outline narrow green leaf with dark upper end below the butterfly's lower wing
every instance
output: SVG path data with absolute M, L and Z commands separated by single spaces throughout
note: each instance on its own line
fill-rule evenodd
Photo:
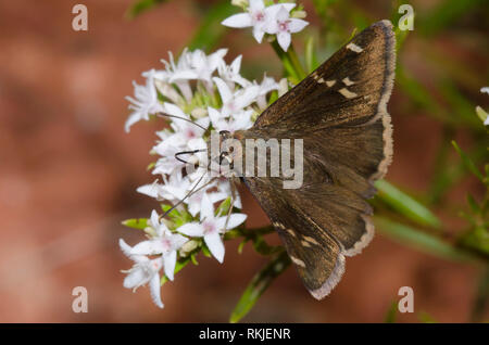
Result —
M 235 323 L 241 320 L 254 306 L 263 292 L 269 286 L 276 277 L 290 265 L 289 256 L 285 251 L 277 254 L 266 266 L 259 271 L 244 290 L 241 298 L 231 312 L 229 321 Z

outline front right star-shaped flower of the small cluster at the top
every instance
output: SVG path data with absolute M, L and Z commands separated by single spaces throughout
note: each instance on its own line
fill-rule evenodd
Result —
M 284 51 L 287 51 L 290 46 L 290 34 L 299 33 L 309 23 L 298 18 L 291 18 L 289 11 L 285 7 L 275 14 L 275 20 L 267 22 L 265 31 L 267 34 L 277 35 L 278 44 L 280 44 Z

